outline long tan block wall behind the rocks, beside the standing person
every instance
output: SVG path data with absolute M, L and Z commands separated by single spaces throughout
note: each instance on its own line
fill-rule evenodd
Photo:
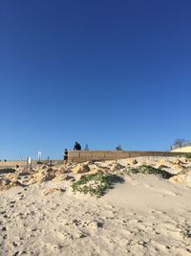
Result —
M 69 161 L 117 160 L 138 156 L 176 156 L 183 153 L 169 151 L 69 151 Z

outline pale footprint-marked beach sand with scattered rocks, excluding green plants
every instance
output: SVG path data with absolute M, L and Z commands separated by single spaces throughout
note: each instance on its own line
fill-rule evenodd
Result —
M 174 176 L 123 172 L 142 164 Z M 138 157 L 1 175 L 0 255 L 191 255 L 190 166 Z M 104 170 L 121 180 L 103 197 L 74 193 L 74 181 Z

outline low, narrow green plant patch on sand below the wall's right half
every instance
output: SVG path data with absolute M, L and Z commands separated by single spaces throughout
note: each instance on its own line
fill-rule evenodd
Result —
M 170 177 L 174 176 L 164 170 L 155 168 L 150 165 L 141 165 L 136 168 L 135 167 L 130 168 L 127 170 L 127 174 L 128 175 L 129 174 L 160 175 L 163 178 L 170 178 Z

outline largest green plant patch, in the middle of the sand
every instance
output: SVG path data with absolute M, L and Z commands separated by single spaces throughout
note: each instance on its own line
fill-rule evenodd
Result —
M 114 188 L 114 184 L 117 182 L 123 182 L 123 178 L 114 174 L 98 172 L 82 176 L 80 180 L 73 183 L 72 188 L 74 192 L 89 193 L 91 196 L 100 198 L 105 195 L 107 190 Z

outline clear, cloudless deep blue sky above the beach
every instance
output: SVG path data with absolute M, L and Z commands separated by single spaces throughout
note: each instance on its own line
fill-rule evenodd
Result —
M 190 0 L 2 0 L 0 159 L 191 139 Z

